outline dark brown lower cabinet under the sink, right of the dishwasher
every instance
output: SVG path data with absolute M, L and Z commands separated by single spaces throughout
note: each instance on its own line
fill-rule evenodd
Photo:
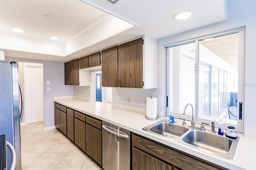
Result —
M 193 170 L 217 170 L 225 169 L 219 165 L 207 162 L 196 156 L 176 150 L 164 144 L 160 144 L 148 138 L 132 134 L 132 168 L 143 169 L 193 169 Z M 148 168 L 145 168 L 145 167 Z

